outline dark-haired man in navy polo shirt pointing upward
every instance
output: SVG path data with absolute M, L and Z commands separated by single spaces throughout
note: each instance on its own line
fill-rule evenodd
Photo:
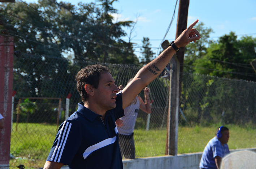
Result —
M 180 47 L 200 39 L 192 23 L 159 57 L 144 66 L 119 92 L 107 67 L 91 65 L 76 76 L 82 101 L 78 110 L 60 125 L 44 169 L 122 169 L 115 121 L 123 109 L 165 68 Z

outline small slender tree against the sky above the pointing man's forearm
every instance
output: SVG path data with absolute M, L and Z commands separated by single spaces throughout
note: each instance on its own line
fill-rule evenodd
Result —
M 143 37 L 143 40 L 142 40 L 142 49 L 140 49 L 142 51 L 142 59 L 141 59 L 141 63 L 144 63 L 144 64 L 147 64 L 149 63 L 150 61 L 153 60 L 153 57 L 154 57 L 154 54 L 152 51 L 151 51 L 151 48 L 150 48 L 151 44 L 149 43 L 149 38 L 148 37 Z

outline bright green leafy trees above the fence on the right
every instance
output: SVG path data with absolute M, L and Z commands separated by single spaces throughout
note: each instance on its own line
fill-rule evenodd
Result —
M 240 40 L 234 32 L 212 43 L 207 54 L 194 62 L 195 73 L 209 74 L 230 79 L 255 81 L 250 62 L 256 58 L 256 39 L 244 36 Z

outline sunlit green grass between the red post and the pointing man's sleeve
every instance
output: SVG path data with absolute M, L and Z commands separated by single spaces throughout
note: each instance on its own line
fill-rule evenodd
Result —
M 17 131 L 15 126 L 11 133 L 10 154 L 17 158 L 11 159 L 10 165 L 42 168 L 57 133 L 56 125 L 19 123 Z

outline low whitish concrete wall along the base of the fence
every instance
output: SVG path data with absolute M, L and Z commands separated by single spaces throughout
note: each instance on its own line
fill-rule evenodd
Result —
M 230 152 L 256 148 L 230 150 Z M 123 169 L 199 169 L 203 152 L 179 154 L 178 156 L 157 156 L 139 159 L 123 160 Z

